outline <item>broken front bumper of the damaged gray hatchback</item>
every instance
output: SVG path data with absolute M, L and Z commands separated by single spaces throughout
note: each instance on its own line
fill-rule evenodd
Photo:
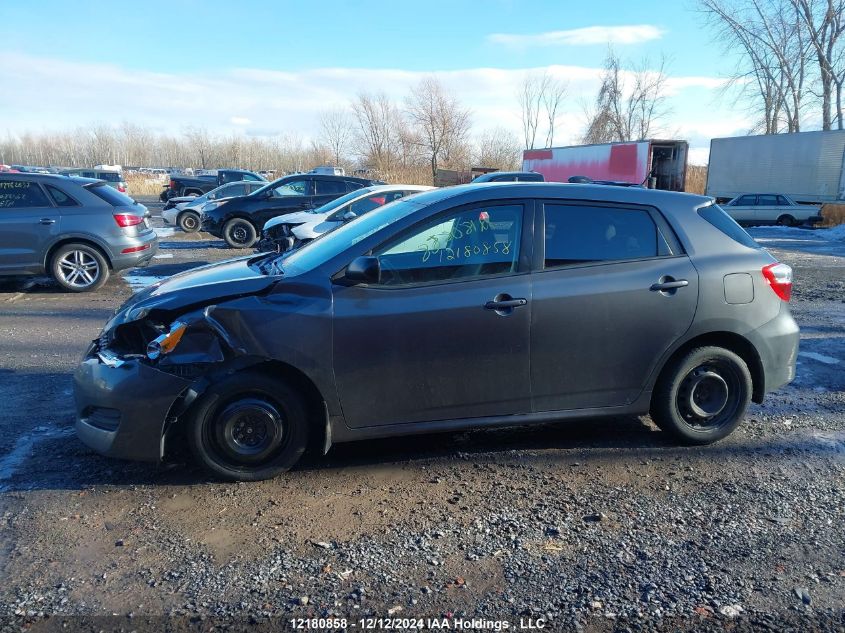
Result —
M 73 377 L 77 436 L 109 457 L 161 461 L 165 427 L 192 381 L 95 348 Z

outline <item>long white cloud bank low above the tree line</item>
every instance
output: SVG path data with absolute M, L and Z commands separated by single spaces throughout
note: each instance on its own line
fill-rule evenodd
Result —
M 435 74 L 472 110 L 476 132 L 505 127 L 520 135 L 516 93 L 525 74 L 538 71 L 547 71 L 568 84 L 555 144 L 577 143 L 584 126 L 583 104 L 592 102 L 598 89 L 601 71 L 597 68 L 553 65 L 442 72 L 241 68 L 176 74 L 23 54 L 6 54 L 0 65 L 0 85 L 6 87 L 0 100 L 0 133 L 39 133 L 128 121 L 158 132 L 178 133 L 190 125 L 205 127 L 215 135 L 288 134 L 307 141 L 317 134 L 320 111 L 345 106 L 361 91 L 383 91 L 401 107 L 412 85 Z M 695 147 L 707 147 L 711 132 L 726 135 L 723 132 L 747 128 L 729 104 L 720 106 L 713 98 L 721 79 L 675 76 L 669 84 L 673 114 L 666 122 L 666 134 L 687 138 Z M 44 98 L 45 87 L 49 99 Z M 708 106 L 703 117 L 702 104 Z M 698 115 L 685 119 L 685 110 L 692 107 Z

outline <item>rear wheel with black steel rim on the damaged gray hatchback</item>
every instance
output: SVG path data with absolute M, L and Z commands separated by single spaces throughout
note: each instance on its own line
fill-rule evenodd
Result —
M 751 400 L 745 361 L 721 347 L 690 350 L 657 381 L 651 418 L 684 444 L 710 444 L 733 432 Z

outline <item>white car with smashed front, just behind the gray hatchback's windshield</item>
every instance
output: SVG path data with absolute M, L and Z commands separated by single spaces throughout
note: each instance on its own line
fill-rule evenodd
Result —
M 258 250 L 292 250 L 373 209 L 429 189 L 434 187 L 375 185 L 356 189 L 311 211 L 280 215 L 264 225 Z

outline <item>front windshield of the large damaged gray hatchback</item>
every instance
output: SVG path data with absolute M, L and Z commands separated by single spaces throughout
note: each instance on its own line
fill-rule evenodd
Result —
M 287 257 L 277 257 L 277 264 L 286 276 L 300 275 L 336 257 L 344 250 L 377 233 L 384 227 L 419 209 L 414 200 L 398 200 L 393 204 L 371 211 L 355 222 L 323 234 L 307 246 L 293 251 Z

